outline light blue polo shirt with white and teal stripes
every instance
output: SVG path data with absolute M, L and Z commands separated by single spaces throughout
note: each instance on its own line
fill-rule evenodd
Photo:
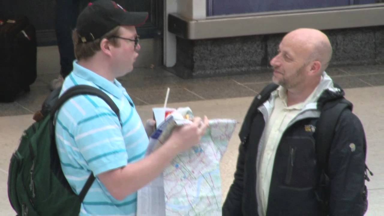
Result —
M 149 141 L 131 98 L 117 80 L 112 83 L 74 61 L 60 95 L 74 85 L 103 90 L 118 106 L 122 121 L 121 127 L 111 108 L 91 95 L 72 98 L 58 112 L 56 145 L 61 167 L 72 189 L 79 194 L 91 171 L 97 176 L 144 158 Z M 118 201 L 96 178 L 84 198 L 80 215 L 133 216 L 136 198 L 134 193 Z

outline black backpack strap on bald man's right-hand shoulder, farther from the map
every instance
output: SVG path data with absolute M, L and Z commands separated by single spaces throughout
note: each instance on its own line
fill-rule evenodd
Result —
M 339 117 L 344 109 L 352 110 L 352 104 L 345 98 L 326 102 L 321 108 L 320 117 L 316 125 L 316 158 L 324 173 L 328 172 L 328 159 L 334 131 Z

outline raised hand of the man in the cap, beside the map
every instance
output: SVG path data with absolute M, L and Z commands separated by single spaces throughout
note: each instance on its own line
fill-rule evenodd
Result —
M 204 121 L 200 117 L 195 117 L 192 123 L 175 128 L 167 143 L 177 152 L 188 150 L 199 143 L 208 126 L 207 116 L 204 116 Z

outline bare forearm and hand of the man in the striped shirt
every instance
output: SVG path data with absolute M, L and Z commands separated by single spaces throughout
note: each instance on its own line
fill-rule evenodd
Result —
M 101 173 L 98 178 L 115 199 L 122 200 L 159 176 L 179 152 L 197 145 L 208 124 L 206 116 L 204 122 L 194 118 L 189 125 L 176 128 L 164 145 L 152 154 L 122 168 Z M 154 120 L 148 120 L 147 125 L 152 128 Z

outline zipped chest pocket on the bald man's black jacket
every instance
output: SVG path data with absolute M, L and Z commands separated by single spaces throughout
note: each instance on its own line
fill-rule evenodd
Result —
M 316 183 L 315 143 L 311 137 L 284 138 L 275 163 L 280 168 L 281 184 L 293 188 L 309 188 Z M 279 159 L 281 158 L 281 160 Z

